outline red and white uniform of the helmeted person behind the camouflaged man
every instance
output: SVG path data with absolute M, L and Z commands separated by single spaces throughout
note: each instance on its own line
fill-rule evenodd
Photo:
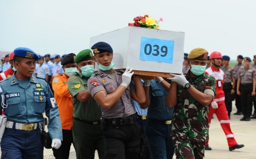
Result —
M 216 71 L 215 68 L 211 66 L 206 70 L 205 73 L 212 75 L 216 79 L 216 88 L 215 88 L 216 96 L 213 101 L 217 102 L 218 104 L 217 109 L 213 109 L 212 106 L 210 105 L 209 116 L 208 116 L 209 126 L 211 125 L 212 116 L 215 113 L 220 122 L 221 128 L 226 134 L 228 147 L 231 148 L 232 146 L 235 146 L 238 143 L 235 141 L 234 134 L 231 131 L 230 119 L 228 118 L 227 109 L 225 105 L 225 94 L 223 91 L 224 72 L 219 68 Z M 208 141 L 206 145 L 208 145 Z

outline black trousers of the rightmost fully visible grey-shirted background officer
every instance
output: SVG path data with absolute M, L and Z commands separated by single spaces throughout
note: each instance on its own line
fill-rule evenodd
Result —
M 240 88 L 243 116 L 250 117 L 253 112 L 253 84 L 241 84 Z

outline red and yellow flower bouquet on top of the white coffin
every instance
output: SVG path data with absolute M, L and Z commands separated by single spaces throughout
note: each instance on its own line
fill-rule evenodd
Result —
M 160 18 L 159 21 L 156 21 L 155 18 L 149 17 L 148 15 L 138 16 L 133 18 L 133 23 L 128 23 L 128 26 L 137 26 L 137 27 L 146 27 L 150 29 L 158 29 L 158 23 L 163 21 L 163 18 Z

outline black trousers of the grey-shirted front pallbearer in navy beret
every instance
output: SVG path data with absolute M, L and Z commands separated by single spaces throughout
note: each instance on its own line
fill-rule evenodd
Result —
M 137 119 L 136 114 L 132 115 Z M 135 150 L 140 146 L 139 122 L 133 121 L 129 125 L 106 124 L 107 119 L 102 118 L 103 138 L 105 143 L 105 158 L 111 159 L 137 159 L 139 151 Z M 135 152 L 133 152 L 133 149 Z

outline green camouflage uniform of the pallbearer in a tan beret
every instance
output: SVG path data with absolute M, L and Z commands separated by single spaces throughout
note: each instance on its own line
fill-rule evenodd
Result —
M 214 77 L 204 73 L 197 78 L 190 78 L 190 70 L 184 75 L 194 88 L 215 97 Z M 203 158 L 205 142 L 209 139 L 209 108 L 198 103 L 181 85 L 177 85 L 177 97 L 171 132 L 175 154 L 177 158 Z

